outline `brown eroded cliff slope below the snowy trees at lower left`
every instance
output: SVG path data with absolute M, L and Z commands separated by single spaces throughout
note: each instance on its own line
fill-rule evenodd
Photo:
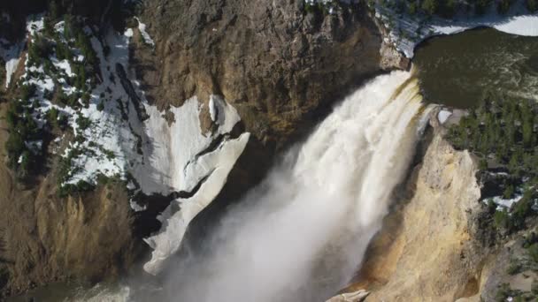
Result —
M 4 107 L 0 104 L 0 112 Z M 0 146 L 4 129 L 1 119 Z M 58 198 L 55 173 L 25 185 L 0 162 L 0 299 L 67 278 L 114 278 L 139 253 L 124 185 L 111 182 L 92 193 Z

